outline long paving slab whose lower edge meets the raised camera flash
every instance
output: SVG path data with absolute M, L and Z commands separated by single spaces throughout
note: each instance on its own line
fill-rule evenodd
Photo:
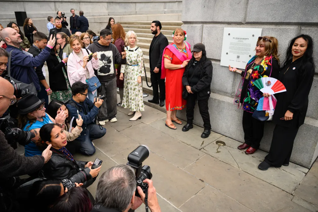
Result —
M 182 169 L 205 154 L 144 123 L 127 128 L 121 133 L 149 146 L 151 151 Z

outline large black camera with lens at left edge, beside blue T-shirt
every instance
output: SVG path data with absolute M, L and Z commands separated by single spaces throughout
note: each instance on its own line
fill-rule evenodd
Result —
M 11 118 L 10 116 L 0 118 L 0 130 L 4 133 L 5 139 L 13 149 L 17 149 L 17 142 L 20 145 L 25 146 L 35 137 L 34 133 L 21 130 L 16 126 L 16 119 Z

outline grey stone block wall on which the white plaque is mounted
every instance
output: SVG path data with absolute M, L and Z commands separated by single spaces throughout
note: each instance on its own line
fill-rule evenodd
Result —
M 276 37 L 279 41 L 280 61 L 285 59 L 289 41 L 299 34 L 314 39 L 314 57 L 318 65 L 318 1 L 317 0 L 183 0 L 183 29 L 187 41 L 194 45 L 202 42 L 212 60 L 213 78 L 209 100 L 212 130 L 244 142 L 242 110 L 233 105 L 240 76 L 220 66 L 224 27 L 262 28 L 262 36 Z M 315 73 L 318 73 L 316 68 Z M 318 76 L 309 95 L 305 124 L 298 131 L 291 161 L 309 168 L 318 156 Z M 195 111 L 195 123 L 203 125 Z M 185 112 L 180 112 L 185 117 Z M 273 124 L 266 123 L 260 149 L 268 151 L 272 140 Z

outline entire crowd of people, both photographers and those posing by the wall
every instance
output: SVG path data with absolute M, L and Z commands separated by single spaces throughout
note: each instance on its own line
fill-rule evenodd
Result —
M 70 11 L 70 26 L 61 11 L 57 12 L 55 19 L 48 17 L 49 37 L 37 31 L 31 18 L 25 19 L 24 34 L 14 22 L 6 28 L 0 25 L 3 28 L 0 36 L 4 42 L 0 48 L 0 117 L 3 114 L 14 117 L 18 128 L 34 134 L 31 142 L 25 145 L 23 157 L 10 149 L 0 132 L 0 150 L 6 151 L 5 155 L 11 154 L 8 157 L 12 159 L 10 168 L 1 166 L 0 171 L 8 177 L 29 174 L 33 178 L 48 179 L 36 181 L 31 189 L 32 198 L 49 198 L 43 199 L 37 210 L 134 210 L 145 202 L 145 194 L 137 187 L 141 198 L 135 196 L 136 181 L 131 167 L 118 165 L 103 173 L 94 200 L 86 188 L 96 180 L 100 167 L 92 169 L 92 161 L 78 161 L 73 155 L 76 152 L 83 155 L 95 153 L 93 140 L 106 134 L 102 127 L 106 122 L 117 121 L 117 106 L 130 110 L 128 115 L 133 116 L 130 121 L 142 118 L 145 110 L 143 52 L 137 46 L 137 34 L 134 31 L 126 33 L 119 23 L 115 24 L 114 18 L 109 18 L 106 28 L 97 36 L 88 29 L 83 11 L 79 11 L 79 16 L 74 9 Z M 201 137 L 208 138 L 211 133 L 208 104 L 213 67 L 207 58 L 205 45 L 197 43 L 191 49 L 182 28 L 176 28 L 172 34 L 173 42 L 169 44 L 161 32 L 160 21 L 153 21 L 149 28 L 154 37 L 149 48 L 153 99 L 148 101 L 160 107 L 166 106 L 165 126 L 172 130 L 176 130 L 175 124 L 183 124 L 176 117 L 177 110 L 186 108 L 184 132 L 193 128 L 197 102 L 204 122 Z M 272 36 L 259 37 L 255 56 L 246 64 L 245 70 L 229 66 L 229 71 L 242 77 L 235 103 L 244 110 L 245 143 L 238 148 L 246 149 L 246 154 L 253 154 L 259 148 L 264 135 L 264 121 L 254 118 L 253 114 L 260 98 L 271 96 L 262 94 L 253 82 L 262 77 L 273 77 L 280 80 L 287 90 L 276 95 L 273 114 L 276 126 L 269 154 L 258 166 L 261 170 L 289 165 L 294 139 L 304 123 L 315 73 L 310 36 L 299 35 L 292 39 L 284 62 L 278 55 L 278 43 Z M 45 62 L 49 83 L 45 80 Z M 35 92 L 21 95 L 21 89 L 7 80 L 8 75 L 22 83 L 21 89 L 23 84 L 29 84 Z M 17 92 L 19 89 L 20 94 Z M 22 161 L 19 168 L 15 164 L 17 160 Z M 26 170 L 26 167 L 29 169 Z M 10 171 L 12 168 L 14 172 Z M 77 184 L 78 187 L 65 189 L 61 180 L 82 170 L 87 172 L 87 180 Z M 144 182 L 149 185 L 150 210 L 160 211 L 152 181 L 146 179 Z M 83 202 L 85 204 L 80 204 Z

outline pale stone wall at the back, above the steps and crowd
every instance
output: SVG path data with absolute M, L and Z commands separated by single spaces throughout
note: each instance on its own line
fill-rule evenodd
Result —
M 65 12 L 69 23 L 71 8 L 75 9 L 77 15 L 80 10 L 84 11 L 84 16 L 89 20 L 89 28 L 97 33 L 106 27 L 109 17 L 113 17 L 115 22 L 147 21 L 149 18 L 154 20 L 158 14 L 161 20 L 180 20 L 178 13 L 182 10 L 182 0 L 0 0 L 0 23 L 6 26 L 11 21 L 16 22 L 14 11 L 26 11 L 27 17 L 32 18 L 38 31 L 48 34 L 47 17 L 55 18 L 56 12 L 60 10 Z M 176 16 L 169 17 L 165 14 Z M 135 15 L 136 18 L 129 15 Z M 122 16 L 128 17 L 121 18 Z

